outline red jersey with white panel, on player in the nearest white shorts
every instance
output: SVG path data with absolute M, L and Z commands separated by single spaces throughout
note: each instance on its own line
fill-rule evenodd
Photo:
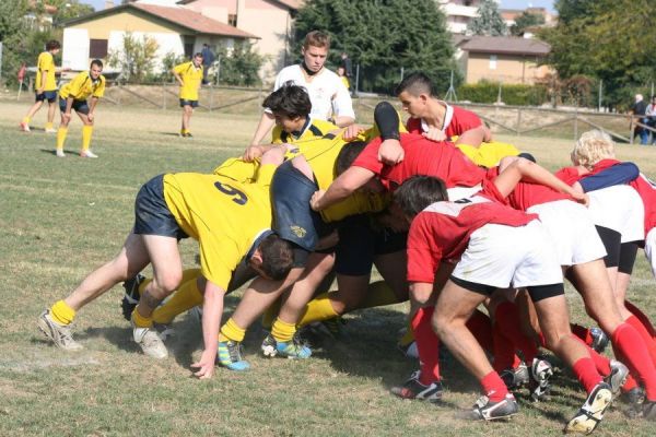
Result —
M 408 234 L 409 282 L 433 283 L 442 260 L 457 261 L 471 234 L 488 223 L 516 227 L 538 218 L 490 200 L 497 196 L 493 191 L 484 193 L 433 203 L 414 217 Z

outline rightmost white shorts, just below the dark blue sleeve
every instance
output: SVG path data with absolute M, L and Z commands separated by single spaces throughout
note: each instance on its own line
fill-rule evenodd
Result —
M 622 243 L 644 239 L 645 206 L 637 191 L 628 185 L 616 185 L 587 194 L 596 225 L 619 232 Z

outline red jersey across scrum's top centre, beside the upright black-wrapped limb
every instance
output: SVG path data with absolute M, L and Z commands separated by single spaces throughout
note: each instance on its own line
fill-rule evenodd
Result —
M 378 149 L 383 140 L 371 141 L 355 158 L 353 165 L 366 168 L 376 174 L 383 185 L 394 190 L 406 179 L 415 175 L 437 177 L 447 188 L 475 187 L 480 184 L 485 170 L 473 164 L 455 145 L 443 142 L 440 146 L 422 135 L 401 133 L 400 142 L 406 157 L 394 166 L 378 161 Z

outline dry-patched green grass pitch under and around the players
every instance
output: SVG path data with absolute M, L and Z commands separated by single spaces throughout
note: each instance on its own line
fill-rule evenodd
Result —
M 265 359 L 258 327 L 246 339 L 253 368 L 218 369 L 210 381 L 191 377 L 200 329 L 181 317 L 172 356 L 153 362 L 138 352 L 122 320 L 120 286 L 80 311 L 75 354 L 48 344 L 37 331 L 40 310 L 62 298 L 93 268 L 110 259 L 132 224 L 134 194 L 151 176 L 210 172 L 249 141 L 259 115 L 198 111 L 192 140 L 178 139 L 175 110 L 98 108 L 92 143 L 98 160 L 75 156 L 81 123 L 70 128 L 66 160 L 52 155 L 55 138 L 20 132 L 26 104 L 0 101 L 0 435 L 1 436 L 551 436 L 584 400 L 566 373 L 555 377 L 548 402 L 520 399 L 509 423 L 469 424 L 455 408 L 478 397 L 476 381 L 453 362 L 444 367 L 445 402 L 401 401 L 388 393 L 415 363 L 395 349 L 406 305 L 347 317 L 345 338 L 327 342 L 312 359 Z M 43 126 L 45 113 L 34 126 Z M 531 152 L 549 168 L 567 164 L 571 141 L 500 137 Z M 620 158 L 656 175 L 656 149 L 623 145 Z M 194 243 L 181 245 L 194 264 Z M 630 297 L 656 318 L 653 277 L 639 256 Z M 227 297 L 227 311 L 238 302 Z M 573 319 L 587 322 L 571 291 Z M 589 322 L 588 322 L 589 323 Z M 598 436 L 653 436 L 654 423 L 629 421 L 618 404 Z

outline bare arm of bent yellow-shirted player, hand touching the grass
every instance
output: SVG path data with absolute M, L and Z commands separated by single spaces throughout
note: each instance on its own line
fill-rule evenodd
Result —
M 214 375 L 216 349 L 219 346 L 219 327 L 223 314 L 223 297 L 225 290 L 206 280 L 202 305 L 202 339 L 204 350 L 200 359 L 191 365 L 198 368 L 194 375 L 200 379 L 211 378 Z

